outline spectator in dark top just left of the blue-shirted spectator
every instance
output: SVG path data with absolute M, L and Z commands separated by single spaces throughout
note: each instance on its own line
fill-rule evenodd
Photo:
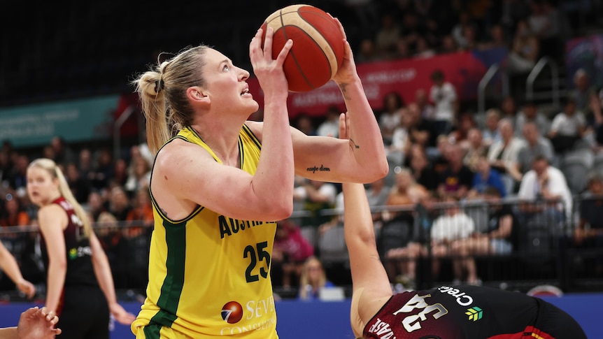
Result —
M 463 199 L 473 184 L 473 172 L 463 164 L 463 154 L 459 145 L 450 145 L 446 152 L 448 168 L 440 175 L 439 196 L 454 196 Z

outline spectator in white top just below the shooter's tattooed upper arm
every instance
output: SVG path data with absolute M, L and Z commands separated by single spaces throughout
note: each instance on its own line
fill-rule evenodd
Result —
M 314 226 L 318 228 L 329 222 L 328 215 L 320 215 L 321 210 L 334 207 L 337 189 L 331 182 L 303 179 L 302 185 L 293 190 L 293 200 L 302 201 L 304 210 L 310 212 L 309 217 L 304 217 L 300 226 Z

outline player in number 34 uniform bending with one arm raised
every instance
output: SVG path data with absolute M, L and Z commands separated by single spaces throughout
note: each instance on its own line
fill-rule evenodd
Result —
M 340 127 L 346 136 L 346 125 Z M 346 244 L 353 282 L 350 321 L 362 338 L 586 339 L 566 312 L 518 292 L 441 286 L 392 294 L 376 249 L 367 195 L 343 183 Z

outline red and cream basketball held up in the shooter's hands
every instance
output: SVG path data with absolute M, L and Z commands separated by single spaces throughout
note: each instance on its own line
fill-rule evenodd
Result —
M 293 47 L 283 69 L 291 92 L 308 92 L 333 78 L 343 61 L 343 34 L 331 15 L 310 5 L 291 5 L 269 15 L 262 24 L 272 27 L 272 57 L 291 39 Z

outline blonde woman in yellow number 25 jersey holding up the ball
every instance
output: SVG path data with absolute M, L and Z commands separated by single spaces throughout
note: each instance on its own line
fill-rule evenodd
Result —
M 292 212 L 295 173 L 330 182 L 387 174 L 381 133 L 347 41 L 333 78 L 348 111 L 340 123 L 350 140 L 340 140 L 289 126 L 283 62 L 292 41 L 273 59 L 272 34 L 269 28 L 263 48 L 261 29 L 250 43 L 263 122 L 246 121 L 259 108 L 248 92 L 249 73 L 206 46 L 135 81 L 155 153 L 155 229 L 147 298 L 132 324 L 136 338 L 278 338 L 270 262 L 275 222 Z M 179 130 L 175 138 L 171 127 Z

